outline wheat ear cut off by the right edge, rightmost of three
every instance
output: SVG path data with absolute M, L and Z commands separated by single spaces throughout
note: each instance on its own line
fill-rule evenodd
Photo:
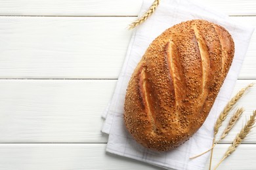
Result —
M 236 135 L 236 138 L 234 139 L 232 144 L 229 146 L 228 150 L 226 150 L 223 158 L 221 159 L 221 161 L 219 161 L 219 163 L 215 166 L 214 169 L 217 169 L 217 167 L 219 167 L 221 162 L 223 162 L 224 159 L 226 159 L 228 156 L 230 156 L 230 154 L 232 154 L 234 151 L 236 151 L 236 148 L 238 147 L 238 145 L 241 144 L 242 141 L 244 141 L 245 137 L 248 135 L 248 133 L 253 128 L 253 125 L 255 124 L 255 117 L 256 117 L 256 110 L 253 111 L 253 114 L 250 116 L 250 118 L 247 121 L 247 123 L 245 124 L 245 126 L 242 128 L 240 133 L 238 133 L 238 135 Z

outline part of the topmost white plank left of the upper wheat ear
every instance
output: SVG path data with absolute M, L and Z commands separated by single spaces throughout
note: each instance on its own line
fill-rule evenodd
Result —
M 135 16 L 142 0 L 3 0 L 1 15 L 35 16 Z

